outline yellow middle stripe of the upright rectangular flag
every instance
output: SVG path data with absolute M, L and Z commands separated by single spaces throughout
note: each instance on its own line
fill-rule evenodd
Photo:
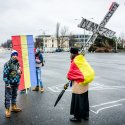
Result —
M 21 46 L 22 46 L 22 60 L 24 66 L 24 83 L 25 83 L 25 88 L 29 88 L 31 87 L 30 69 L 28 60 L 27 37 L 25 35 L 21 36 Z

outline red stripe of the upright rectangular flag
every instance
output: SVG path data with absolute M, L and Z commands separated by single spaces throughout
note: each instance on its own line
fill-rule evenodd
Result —
M 22 60 L 21 37 L 12 36 L 12 44 L 13 44 L 13 49 L 18 51 L 18 60 L 19 60 L 20 67 L 22 70 L 19 90 L 23 90 L 23 89 L 25 89 L 25 85 L 24 85 L 24 70 L 23 70 L 23 60 Z

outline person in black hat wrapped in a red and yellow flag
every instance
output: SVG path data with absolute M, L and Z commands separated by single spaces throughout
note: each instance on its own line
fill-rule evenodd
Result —
M 70 53 L 71 64 L 67 78 L 72 81 L 70 114 L 74 115 L 70 121 L 80 122 L 81 119 L 89 119 L 88 84 L 93 81 L 95 73 L 77 48 L 71 48 Z

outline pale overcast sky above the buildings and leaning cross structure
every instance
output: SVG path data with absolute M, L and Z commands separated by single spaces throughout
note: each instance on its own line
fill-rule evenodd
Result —
M 13 35 L 55 35 L 56 23 L 68 27 L 69 33 L 81 34 L 77 27 L 81 17 L 100 23 L 112 0 L 0 0 L 0 43 Z M 116 0 L 120 6 L 106 28 L 125 34 L 125 0 Z M 92 19 L 93 18 L 93 19 Z M 75 20 L 77 19 L 77 20 Z

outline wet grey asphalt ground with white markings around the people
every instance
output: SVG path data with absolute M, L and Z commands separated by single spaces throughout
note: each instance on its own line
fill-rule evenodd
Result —
M 19 92 L 18 105 L 22 112 L 12 113 L 7 119 L 2 70 L 9 54 L 0 53 L 0 125 L 125 125 L 125 53 L 86 54 L 96 77 L 89 88 L 90 119 L 81 123 L 69 121 L 71 88 L 54 108 L 55 100 L 67 82 L 69 53 L 46 53 L 44 57 L 46 62 L 41 77 L 45 92 Z

